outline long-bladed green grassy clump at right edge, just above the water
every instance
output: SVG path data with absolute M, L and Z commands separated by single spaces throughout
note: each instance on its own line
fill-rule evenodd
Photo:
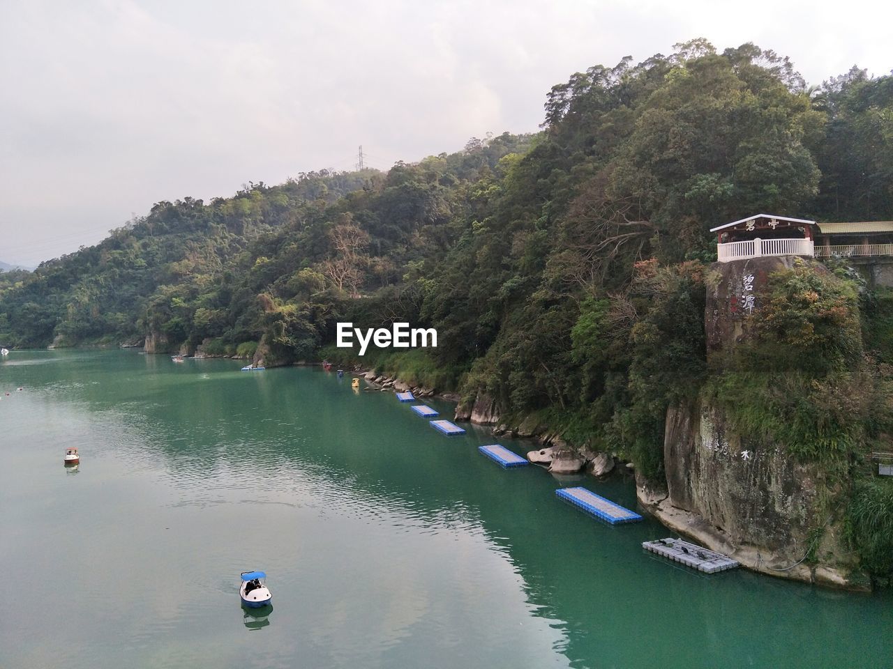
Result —
M 893 481 L 872 478 L 855 484 L 847 539 L 869 573 L 893 578 Z

